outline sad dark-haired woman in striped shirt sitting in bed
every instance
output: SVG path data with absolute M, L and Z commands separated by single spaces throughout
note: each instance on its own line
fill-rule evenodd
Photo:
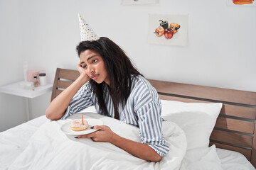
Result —
M 82 41 L 77 51 L 80 77 L 50 103 L 47 118 L 65 119 L 95 106 L 97 113 L 139 127 L 142 143 L 120 137 L 106 125 L 96 125 L 96 132 L 78 138 L 110 142 L 135 157 L 159 162 L 169 152 L 169 146 L 162 134 L 161 102 L 156 90 L 108 38 Z

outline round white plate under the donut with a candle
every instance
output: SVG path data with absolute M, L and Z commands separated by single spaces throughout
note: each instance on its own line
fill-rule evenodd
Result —
M 91 132 L 97 131 L 97 130 L 94 130 L 94 129 L 90 129 L 94 125 L 103 125 L 102 120 L 99 120 L 99 119 L 86 118 L 84 120 L 87 120 L 87 122 L 89 124 L 89 127 L 86 130 L 81 130 L 81 131 L 71 130 L 69 124 L 73 120 L 70 120 L 68 123 L 65 123 L 64 125 L 62 125 L 60 127 L 60 130 L 63 131 L 67 135 L 76 135 L 76 136 L 78 136 L 78 135 L 86 135 L 86 134 L 89 134 Z

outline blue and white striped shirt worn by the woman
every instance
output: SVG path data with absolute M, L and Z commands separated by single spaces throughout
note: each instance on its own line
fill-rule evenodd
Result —
M 114 106 L 107 86 L 105 91 L 105 105 L 108 116 L 114 118 Z M 62 119 L 68 118 L 82 109 L 95 106 L 97 113 L 102 114 L 97 103 L 97 97 L 90 90 L 87 82 L 75 94 Z M 119 105 L 119 118 L 122 122 L 139 127 L 139 136 L 142 143 L 152 147 L 161 157 L 169 152 L 169 146 L 162 133 L 161 101 L 153 86 L 142 76 L 132 77 L 131 94 L 127 103 Z

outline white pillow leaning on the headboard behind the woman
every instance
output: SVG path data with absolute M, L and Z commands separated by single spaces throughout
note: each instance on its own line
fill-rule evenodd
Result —
M 185 132 L 188 147 L 208 147 L 210 134 L 222 103 L 183 103 L 161 100 L 162 118 L 176 123 Z

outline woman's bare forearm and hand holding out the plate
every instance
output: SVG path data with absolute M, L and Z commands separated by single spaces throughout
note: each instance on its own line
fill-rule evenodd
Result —
M 139 157 L 151 162 L 161 161 L 161 156 L 157 154 L 154 149 L 149 147 L 149 145 L 134 142 L 132 140 L 125 139 L 119 135 L 112 132 L 112 130 L 106 125 L 97 125 L 94 126 L 94 129 L 98 131 L 92 132 L 87 135 L 80 135 L 79 138 L 89 138 L 91 137 L 95 142 L 110 142 L 117 147 L 124 149 L 129 154 Z

